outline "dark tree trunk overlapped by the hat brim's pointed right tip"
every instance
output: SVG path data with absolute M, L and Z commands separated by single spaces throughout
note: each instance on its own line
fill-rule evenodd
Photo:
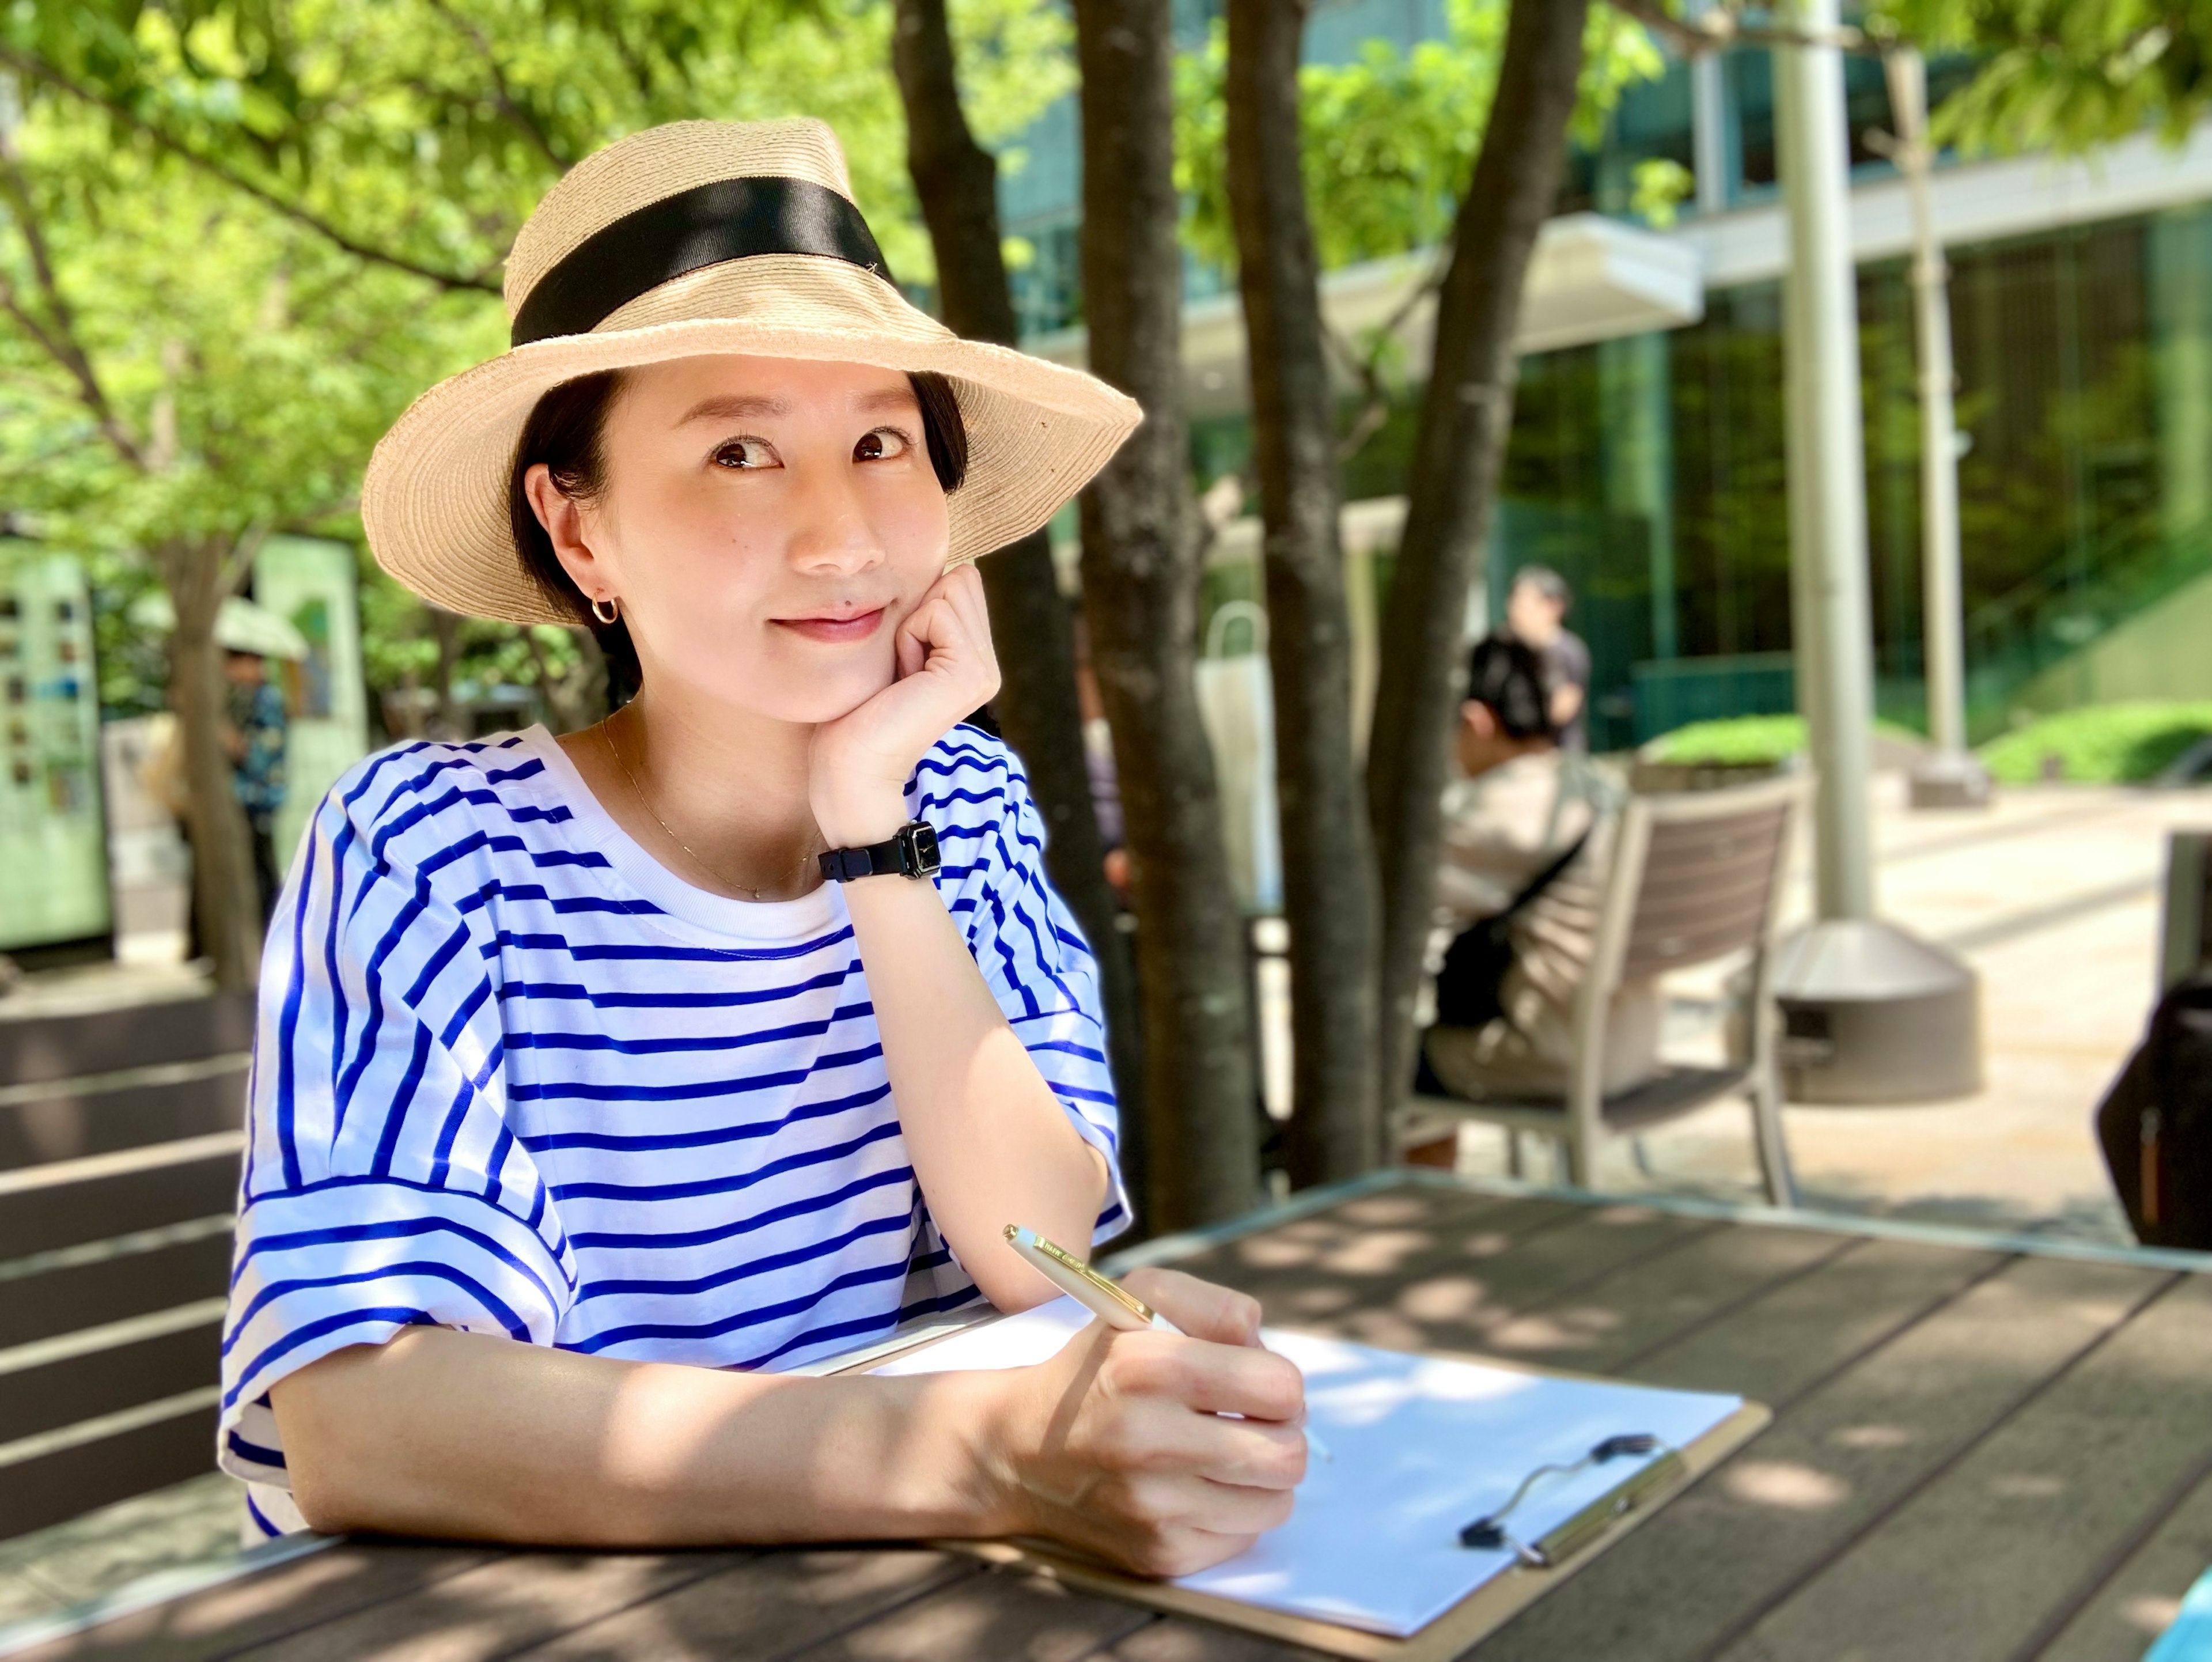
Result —
M 1152 1226 L 1259 1186 L 1243 918 L 1199 726 L 1199 562 L 1181 416 L 1170 0 L 1075 0 L 1091 370 L 1144 425 L 1084 491 L 1084 617 L 1113 724 L 1137 907 Z

